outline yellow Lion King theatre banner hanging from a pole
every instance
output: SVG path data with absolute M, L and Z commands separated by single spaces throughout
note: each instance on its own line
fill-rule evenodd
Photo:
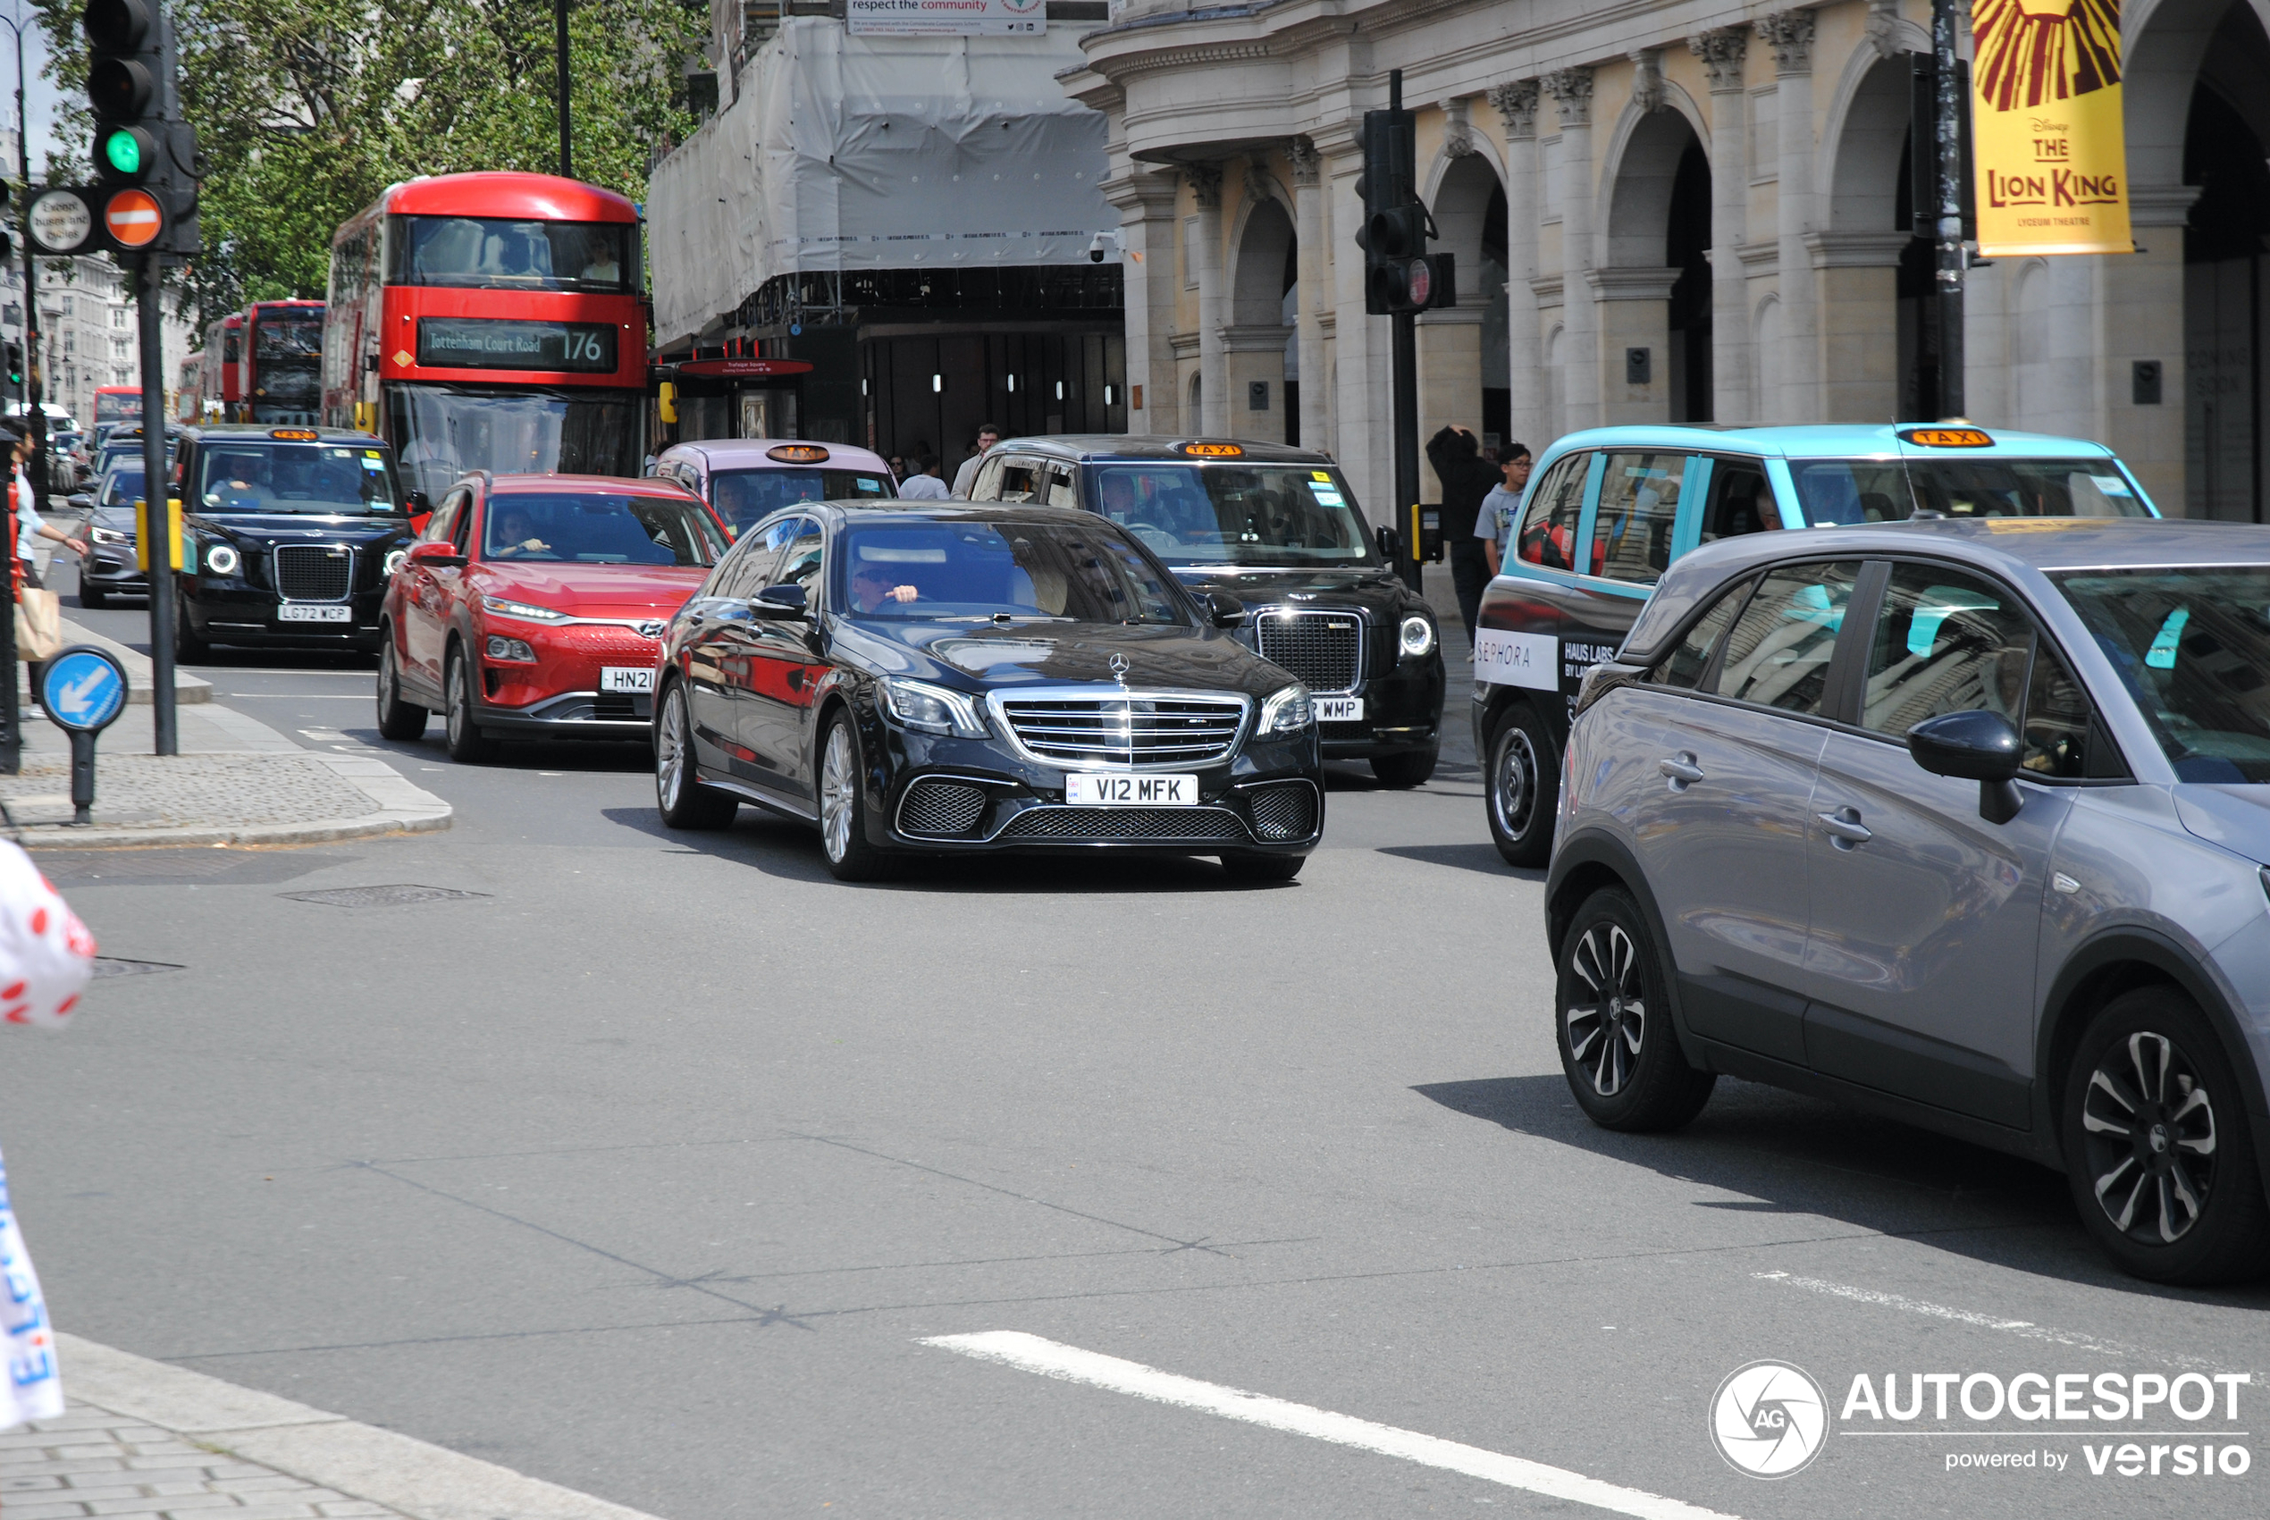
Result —
M 1979 254 L 2129 254 L 2120 0 L 1970 0 Z

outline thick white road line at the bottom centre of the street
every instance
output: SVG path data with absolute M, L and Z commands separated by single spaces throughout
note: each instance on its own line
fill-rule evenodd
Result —
M 1151 1400 L 1155 1404 L 1176 1404 L 1180 1409 L 1217 1413 L 1226 1420 L 1244 1420 L 1246 1425 L 1292 1432 L 1294 1436 L 1353 1445 L 1362 1452 L 1378 1452 L 1380 1456 L 1401 1456 L 1403 1461 L 1444 1468 L 1446 1472 L 1464 1472 L 1466 1477 L 1505 1484 L 1507 1488 L 1523 1488 L 1528 1493 L 1541 1493 L 1553 1500 L 1591 1504 L 1594 1509 L 1607 1509 L 1619 1515 L 1639 1515 L 1639 1520 L 1730 1520 L 1714 1509 L 1698 1509 L 1641 1488 L 1603 1484 L 1596 1477 L 1569 1472 L 1566 1468 L 1548 1468 L 1541 1461 L 1485 1452 L 1478 1445 L 1421 1436 L 1419 1432 L 1396 1429 L 1394 1425 L 1373 1425 L 1371 1420 L 1357 1420 L 1355 1416 L 1332 1413 L 1330 1409 L 1317 1409 L 1312 1404 L 1294 1404 L 1264 1393 L 1246 1393 L 1244 1388 L 1226 1388 L 1221 1384 L 1199 1382 L 1196 1377 L 1160 1373 L 1158 1368 L 1146 1368 L 1140 1361 L 1121 1361 L 1119 1357 L 1105 1357 L 1101 1352 L 1083 1352 L 1078 1345 L 1044 1341 L 1042 1336 L 1028 1336 L 1022 1329 L 987 1329 L 974 1336 L 931 1336 L 922 1341 L 922 1345 L 938 1345 L 949 1352 L 960 1352 L 962 1357 L 976 1357 L 978 1361 L 999 1361 L 1024 1373 L 1060 1377 L 1092 1388 L 1133 1393 L 1135 1397 Z

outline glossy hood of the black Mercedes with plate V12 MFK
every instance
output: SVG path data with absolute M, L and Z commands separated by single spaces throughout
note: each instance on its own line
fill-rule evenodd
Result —
M 838 624 L 838 649 L 860 658 L 876 674 L 947 681 L 962 690 L 1124 681 L 1130 690 L 1180 687 L 1267 696 L 1285 685 L 1285 672 L 1212 628 L 844 622 Z M 1115 669 L 1115 656 L 1124 672 Z

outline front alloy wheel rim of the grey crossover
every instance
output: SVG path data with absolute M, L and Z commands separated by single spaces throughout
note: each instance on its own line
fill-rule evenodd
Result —
M 2184 1239 L 2216 1180 L 2216 1105 L 2200 1069 L 2166 1035 L 2111 1046 L 2082 1093 L 2091 1189 L 2132 1241 Z

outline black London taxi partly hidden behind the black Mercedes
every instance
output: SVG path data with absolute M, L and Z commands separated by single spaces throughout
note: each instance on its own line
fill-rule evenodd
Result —
M 1326 760 L 1369 760 L 1389 787 L 1435 774 L 1435 608 L 1396 576 L 1330 456 L 1235 438 L 1010 438 L 969 499 L 1103 513 L 1201 599 L 1248 608 L 1237 640 L 1308 685 Z

